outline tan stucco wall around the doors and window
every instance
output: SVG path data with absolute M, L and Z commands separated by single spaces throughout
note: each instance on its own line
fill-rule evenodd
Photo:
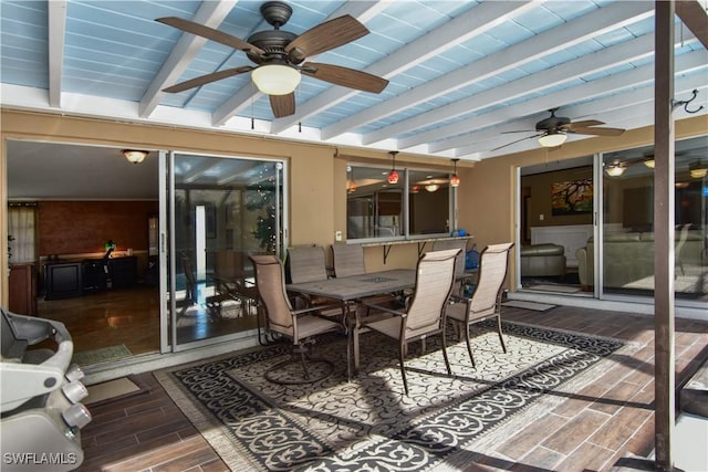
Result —
M 355 148 L 336 148 L 330 145 L 302 144 L 270 137 L 242 136 L 231 133 L 163 127 L 147 124 L 128 124 L 73 117 L 59 114 L 2 109 L 2 147 L 0 154 L 0 239 L 7 239 L 7 139 L 34 139 L 103 146 L 137 147 L 148 149 L 175 149 L 226 156 L 258 156 L 284 158 L 289 162 L 290 177 L 290 243 L 334 242 L 335 231 L 346 228 L 346 162 L 387 162 L 386 151 Z M 706 133 L 702 117 L 676 124 L 677 137 Z M 593 138 L 568 143 L 559 149 L 533 149 L 527 153 L 482 160 L 460 161 L 458 175 L 458 228 L 476 237 L 478 248 L 486 244 L 513 241 L 516 174 L 519 166 L 529 166 L 549 160 L 568 159 L 592 155 L 596 151 L 617 150 L 653 140 L 652 128 L 625 133 L 618 138 Z M 434 168 L 449 168 L 440 159 L 410 156 L 405 153 L 396 157 L 400 167 L 424 164 Z M 413 266 L 417 259 L 415 243 L 392 249 L 386 265 L 383 249 L 366 250 L 367 269 L 393 269 Z M 7 253 L 0 251 L 0 266 L 7 271 Z M 512 268 L 513 271 L 513 268 Z M 7 275 L 7 273 L 6 273 Z M 511 280 L 513 280 L 513 274 Z M 0 301 L 7 304 L 7 276 L 0 277 Z

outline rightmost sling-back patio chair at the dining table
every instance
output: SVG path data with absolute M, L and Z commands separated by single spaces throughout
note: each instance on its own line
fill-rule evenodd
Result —
M 509 251 L 513 247 L 512 242 L 502 244 L 491 244 L 485 248 L 480 256 L 479 277 L 477 290 L 469 298 L 457 297 L 458 303 L 447 307 L 447 316 L 457 323 L 461 332 L 465 333 L 467 352 L 475 367 L 475 357 L 469 340 L 469 326 L 485 319 L 497 319 L 497 332 L 501 348 L 507 353 L 504 338 L 501 333 L 501 295 L 502 284 L 507 277 L 507 265 L 509 262 Z

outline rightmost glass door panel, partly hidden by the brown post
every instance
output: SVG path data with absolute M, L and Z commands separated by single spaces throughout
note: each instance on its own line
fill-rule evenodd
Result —
M 676 141 L 674 286 L 678 303 L 690 304 L 708 294 L 706 156 L 706 137 Z M 654 296 L 654 148 L 605 155 L 603 169 L 603 294 Z

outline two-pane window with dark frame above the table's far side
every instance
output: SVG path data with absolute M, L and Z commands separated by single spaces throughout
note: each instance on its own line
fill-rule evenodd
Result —
M 447 235 L 454 201 L 449 175 L 440 170 L 391 169 L 350 164 L 346 178 L 346 238 L 405 239 Z

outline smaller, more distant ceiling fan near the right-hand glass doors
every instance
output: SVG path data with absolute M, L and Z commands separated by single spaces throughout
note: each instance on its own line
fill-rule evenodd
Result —
M 603 122 L 596 119 L 586 119 L 584 122 L 572 123 L 571 118 L 564 116 L 555 116 L 558 108 L 549 109 L 551 116 L 541 119 L 535 124 L 535 132 L 538 134 L 533 136 L 527 136 L 516 141 L 507 143 L 503 146 L 499 146 L 492 150 L 498 150 L 512 144 L 520 143 L 525 139 L 539 138 L 539 143 L 544 147 L 555 147 L 565 143 L 568 139 L 568 133 L 574 133 L 579 135 L 593 135 L 593 136 L 620 136 L 624 133 L 622 128 L 598 128 L 596 126 L 604 125 Z M 509 133 L 532 133 L 530 129 L 519 132 L 506 132 Z

